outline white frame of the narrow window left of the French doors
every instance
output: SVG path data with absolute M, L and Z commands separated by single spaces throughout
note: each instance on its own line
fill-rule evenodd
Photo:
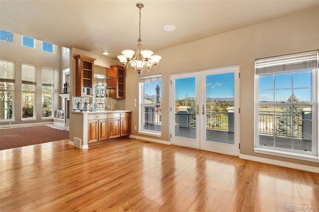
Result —
M 145 83 L 151 83 L 151 82 L 160 82 L 160 104 L 155 104 L 155 103 L 144 103 L 144 86 Z M 160 130 L 150 130 L 150 129 L 144 129 L 144 124 L 145 124 L 145 106 L 154 106 L 154 112 L 157 110 L 158 112 L 158 117 L 154 118 L 154 122 L 156 122 L 157 125 L 161 125 L 161 94 L 162 94 L 162 81 L 161 81 L 161 74 L 157 75 L 151 75 L 151 76 L 145 76 L 145 77 L 140 77 L 140 82 L 139 82 L 139 96 L 140 96 L 140 101 L 139 101 L 139 134 L 145 134 L 145 135 L 152 135 L 152 136 L 161 136 L 161 126 Z M 136 103 L 135 103 L 136 104 Z M 158 107 L 157 107 L 158 106 Z M 158 108 L 158 109 L 156 109 Z M 150 118 L 150 117 L 149 117 Z

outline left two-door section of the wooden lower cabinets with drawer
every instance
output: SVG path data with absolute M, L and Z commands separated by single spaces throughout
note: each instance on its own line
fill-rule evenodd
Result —
M 88 143 L 108 139 L 108 114 L 88 115 Z

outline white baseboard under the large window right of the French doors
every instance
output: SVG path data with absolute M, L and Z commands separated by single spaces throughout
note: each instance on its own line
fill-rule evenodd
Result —
M 245 159 L 245 160 L 256 161 L 256 162 L 261 162 L 261 163 L 272 164 L 272 165 L 276 165 L 276 166 L 283 166 L 283 167 L 292 168 L 292 169 L 299 169 L 299 170 L 303 170 L 303 171 L 307 171 L 307 172 L 319 173 L 319 168 L 314 167 L 314 166 L 301 165 L 301 164 L 296 164 L 296 163 L 273 160 L 273 159 L 268 159 L 268 158 L 261 158 L 261 157 L 244 155 L 244 154 L 240 154 L 239 158 Z

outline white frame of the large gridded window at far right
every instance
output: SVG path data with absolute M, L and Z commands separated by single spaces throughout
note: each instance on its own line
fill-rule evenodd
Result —
M 289 102 L 276 102 L 276 96 L 274 96 L 274 100 L 273 102 L 259 102 L 259 77 L 263 76 L 264 74 L 257 73 L 257 68 L 256 68 L 256 74 L 255 74 L 255 146 L 254 146 L 254 151 L 256 153 L 262 153 L 262 154 L 270 154 L 270 155 L 276 155 L 276 156 L 282 156 L 282 157 L 289 157 L 289 158 L 295 158 L 295 159 L 301 159 L 301 160 L 307 160 L 307 161 L 315 161 L 315 162 L 319 162 L 319 141 L 318 141 L 318 130 L 319 130 L 319 125 L 318 125 L 318 117 L 319 117 L 319 113 L 318 113 L 318 96 L 319 96 L 319 92 L 318 92 L 318 83 L 319 83 L 319 78 L 318 78 L 318 51 L 317 52 L 317 67 L 305 67 L 303 68 L 297 68 L 296 70 L 282 70 L 282 72 L 278 71 L 278 68 L 274 68 L 274 72 L 271 71 L 267 71 L 266 74 L 274 74 L 274 79 L 276 74 L 280 74 L 280 73 L 288 73 L 288 72 L 292 72 L 292 79 L 293 79 L 293 74 L 294 72 L 297 71 L 303 71 L 303 70 L 312 70 L 312 100 L 309 102 L 296 102 L 296 103 L 289 103 Z M 314 52 L 313 52 L 314 53 Z M 302 53 L 299 53 L 302 54 Z M 307 54 L 307 53 L 305 53 Z M 295 54 L 292 54 L 295 55 Z M 296 54 L 298 55 L 298 54 Z M 290 56 L 290 55 L 286 55 L 286 56 Z M 284 56 L 280 56 L 285 58 Z M 274 57 L 276 58 L 276 57 Z M 266 58 L 268 59 L 268 58 Z M 283 59 L 285 60 L 285 59 Z M 257 61 L 257 60 L 256 60 Z M 293 64 L 295 65 L 295 64 Z M 296 66 L 296 65 L 295 65 Z M 314 66 L 314 65 L 313 65 Z M 256 62 L 255 62 L 255 67 L 256 67 Z M 271 67 L 270 69 L 271 70 Z M 265 71 L 266 72 L 266 71 Z M 291 86 L 292 91 L 294 91 L 294 86 Z M 273 90 L 275 91 L 275 82 L 273 85 Z M 294 94 L 294 92 L 293 92 Z M 275 94 L 274 94 L 275 95 Z M 279 147 L 265 147 L 260 145 L 259 143 L 259 107 L 260 106 L 311 106 L 312 107 L 312 150 L 311 151 L 301 151 L 301 150 L 294 150 L 294 149 L 289 149 L 289 148 L 279 148 Z M 294 116 L 295 117 L 295 116 Z M 275 136 L 275 134 L 274 134 Z

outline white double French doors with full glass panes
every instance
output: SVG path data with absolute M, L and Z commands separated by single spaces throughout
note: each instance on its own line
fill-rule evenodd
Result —
M 171 75 L 175 145 L 239 154 L 239 67 Z

